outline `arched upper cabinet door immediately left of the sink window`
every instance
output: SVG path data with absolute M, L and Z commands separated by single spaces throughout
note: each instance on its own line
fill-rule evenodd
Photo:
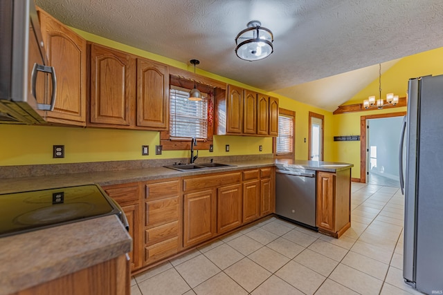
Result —
M 168 130 L 168 66 L 137 59 L 137 126 Z

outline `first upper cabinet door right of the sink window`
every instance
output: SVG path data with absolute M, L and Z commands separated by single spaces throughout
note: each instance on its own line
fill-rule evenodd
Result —
M 228 85 L 228 102 L 226 106 L 227 133 L 242 133 L 243 122 L 243 88 Z

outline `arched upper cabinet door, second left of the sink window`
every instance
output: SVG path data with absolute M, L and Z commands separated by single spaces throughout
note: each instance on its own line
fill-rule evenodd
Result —
M 129 125 L 134 59 L 91 44 L 91 123 Z

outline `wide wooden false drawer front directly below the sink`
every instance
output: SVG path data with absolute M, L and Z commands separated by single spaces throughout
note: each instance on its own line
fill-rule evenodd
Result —
M 198 178 L 188 178 L 183 180 L 183 191 L 192 189 L 208 189 L 211 187 L 219 187 L 221 185 L 239 183 L 242 180 L 242 173 L 217 174 L 203 176 Z

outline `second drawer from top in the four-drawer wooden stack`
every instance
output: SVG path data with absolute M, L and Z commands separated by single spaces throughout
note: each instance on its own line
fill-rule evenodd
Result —
M 146 202 L 147 227 L 156 227 L 179 220 L 179 197 Z

